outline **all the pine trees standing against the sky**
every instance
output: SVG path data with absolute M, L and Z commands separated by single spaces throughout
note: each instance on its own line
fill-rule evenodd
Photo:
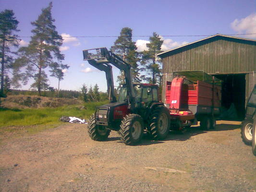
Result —
M 60 81 L 64 78 L 63 70 L 68 69 L 69 66 L 63 63 L 64 55 L 60 51 L 63 39 L 54 25 L 55 20 L 52 18 L 51 9 L 52 2 L 42 9 L 36 21 L 31 22 L 34 28 L 31 31 L 31 40 L 26 47 L 19 47 L 21 39 L 16 35 L 19 32 L 19 22 L 14 12 L 12 10 L 0 12 L 0 97 L 6 96 L 10 85 L 18 88 L 22 84 L 27 84 L 30 79 L 34 80 L 31 88 L 37 89 L 39 96 L 42 90 L 52 90 L 53 87 L 48 84 L 46 69 L 49 70 L 50 76 L 58 79 L 57 96 L 60 96 Z M 163 40 L 154 32 L 153 36 L 149 37 L 149 43 L 146 44 L 147 50 L 139 52 L 132 40 L 132 31 L 129 27 L 122 28 L 120 36 L 110 50 L 131 64 L 134 82 L 144 81 L 161 86 L 161 69 L 156 54 L 161 52 Z M 12 74 L 12 79 L 8 74 Z M 124 83 L 122 72 L 118 76 L 118 82 Z M 99 101 L 107 98 L 107 93 L 104 94 L 98 91 L 97 84 L 89 88 L 84 84 L 81 88 L 81 95 L 85 101 Z

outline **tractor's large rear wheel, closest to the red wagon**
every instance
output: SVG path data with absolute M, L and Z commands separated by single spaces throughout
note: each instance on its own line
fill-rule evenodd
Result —
M 148 132 L 154 139 L 165 139 L 170 131 L 170 112 L 167 108 L 156 107 L 149 116 Z

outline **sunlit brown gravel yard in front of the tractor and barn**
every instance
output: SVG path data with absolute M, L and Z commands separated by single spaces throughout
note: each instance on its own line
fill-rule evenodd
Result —
M 214 131 L 194 127 L 137 146 L 122 144 L 117 132 L 92 141 L 86 125 L 68 123 L 5 139 L 0 191 L 256 192 L 256 157 L 239 125 L 218 123 Z

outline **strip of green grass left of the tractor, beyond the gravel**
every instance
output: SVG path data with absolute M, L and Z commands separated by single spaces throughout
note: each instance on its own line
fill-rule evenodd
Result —
M 0 128 L 8 126 L 30 126 L 59 123 L 61 116 L 73 116 L 88 120 L 97 106 L 108 103 L 92 102 L 82 106 L 65 106 L 59 108 L 0 108 Z

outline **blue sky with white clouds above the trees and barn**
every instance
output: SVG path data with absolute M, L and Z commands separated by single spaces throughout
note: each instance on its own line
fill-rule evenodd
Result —
M 0 11 L 12 9 L 20 22 L 19 36 L 31 36 L 31 22 L 50 0 L 0 0 Z M 123 27 L 133 29 L 134 36 L 150 36 L 157 32 L 163 37 L 163 50 L 191 43 L 206 36 L 256 33 L 256 0 L 52 0 L 52 15 L 62 36 L 119 36 Z M 255 39 L 255 35 L 241 36 Z M 62 53 L 70 65 L 61 81 L 61 89 L 79 90 L 82 84 L 98 84 L 106 91 L 103 72 L 83 61 L 83 49 L 110 48 L 117 37 L 65 38 Z M 139 50 L 149 37 L 134 37 Z M 30 38 L 21 38 L 25 46 Z M 114 69 L 113 75 L 119 74 Z M 31 80 L 31 83 L 33 80 Z M 56 79 L 49 77 L 51 86 Z M 23 88 L 29 88 L 29 84 Z

